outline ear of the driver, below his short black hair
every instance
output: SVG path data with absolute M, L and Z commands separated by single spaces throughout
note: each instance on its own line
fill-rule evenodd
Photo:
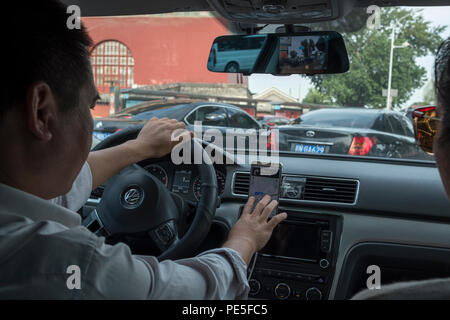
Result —
M 24 108 L 29 132 L 38 140 L 51 140 L 52 123 L 57 119 L 58 105 L 49 85 L 43 81 L 31 84 Z

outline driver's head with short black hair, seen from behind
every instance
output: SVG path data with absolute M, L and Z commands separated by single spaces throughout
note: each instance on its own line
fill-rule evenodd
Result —
M 5 10 L 0 183 L 52 198 L 70 190 L 91 147 L 91 39 L 83 27 L 67 27 L 70 14 L 56 0 Z

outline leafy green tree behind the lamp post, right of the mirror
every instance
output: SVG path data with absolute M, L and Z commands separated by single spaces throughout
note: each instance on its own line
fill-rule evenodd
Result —
M 391 85 L 398 90 L 392 106 L 405 103 L 426 82 L 426 70 L 417 65 L 416 59 L 435 54 L 442 42 L 440 34 L 446 29 L 446 26 L 432 27 L 409 9 L 383 8 L 380 28 L 364 27 L 343 34 L 350 70 L 338 75 L 313 76 L 313 86 L 337 105 L 384 108 L 386 97 L 382 96 L 382 90 L 388 85 L 391 27 L 405 15 L 397 28 L 395 45 L 407 41 L 409 46 L 394 50 Z

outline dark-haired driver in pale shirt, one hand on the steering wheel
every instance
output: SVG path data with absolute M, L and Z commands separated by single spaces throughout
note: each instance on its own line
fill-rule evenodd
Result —
M 269 197 L 253 212 L 249 200 L 222 248 L 177 261 L 133 255 L 80 225 L 73 210 L 93 188 L 170 152 L 171 133 L 184 125 L 153 119 L 135 140 L 89 153 L 98 98 L 91 40 L 84 28 L 67 28 L 68 16 L 65 5 L 42 0 L 11 3 L 0 20 L 11 30 L 0 86 L 0 298 L 246 298 L 250 259 L 286 218 L 268 220 L 277 205 Z

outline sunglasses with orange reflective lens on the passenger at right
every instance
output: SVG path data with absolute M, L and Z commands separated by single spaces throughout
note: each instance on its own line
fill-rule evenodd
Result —
M 437 133 L 438 123 L 441 121 L 437 108 L 434 106 L 418 107 L 412 111 L 411 115 L 417 144 L 425 153 L 433 155 L 433 140 Z

